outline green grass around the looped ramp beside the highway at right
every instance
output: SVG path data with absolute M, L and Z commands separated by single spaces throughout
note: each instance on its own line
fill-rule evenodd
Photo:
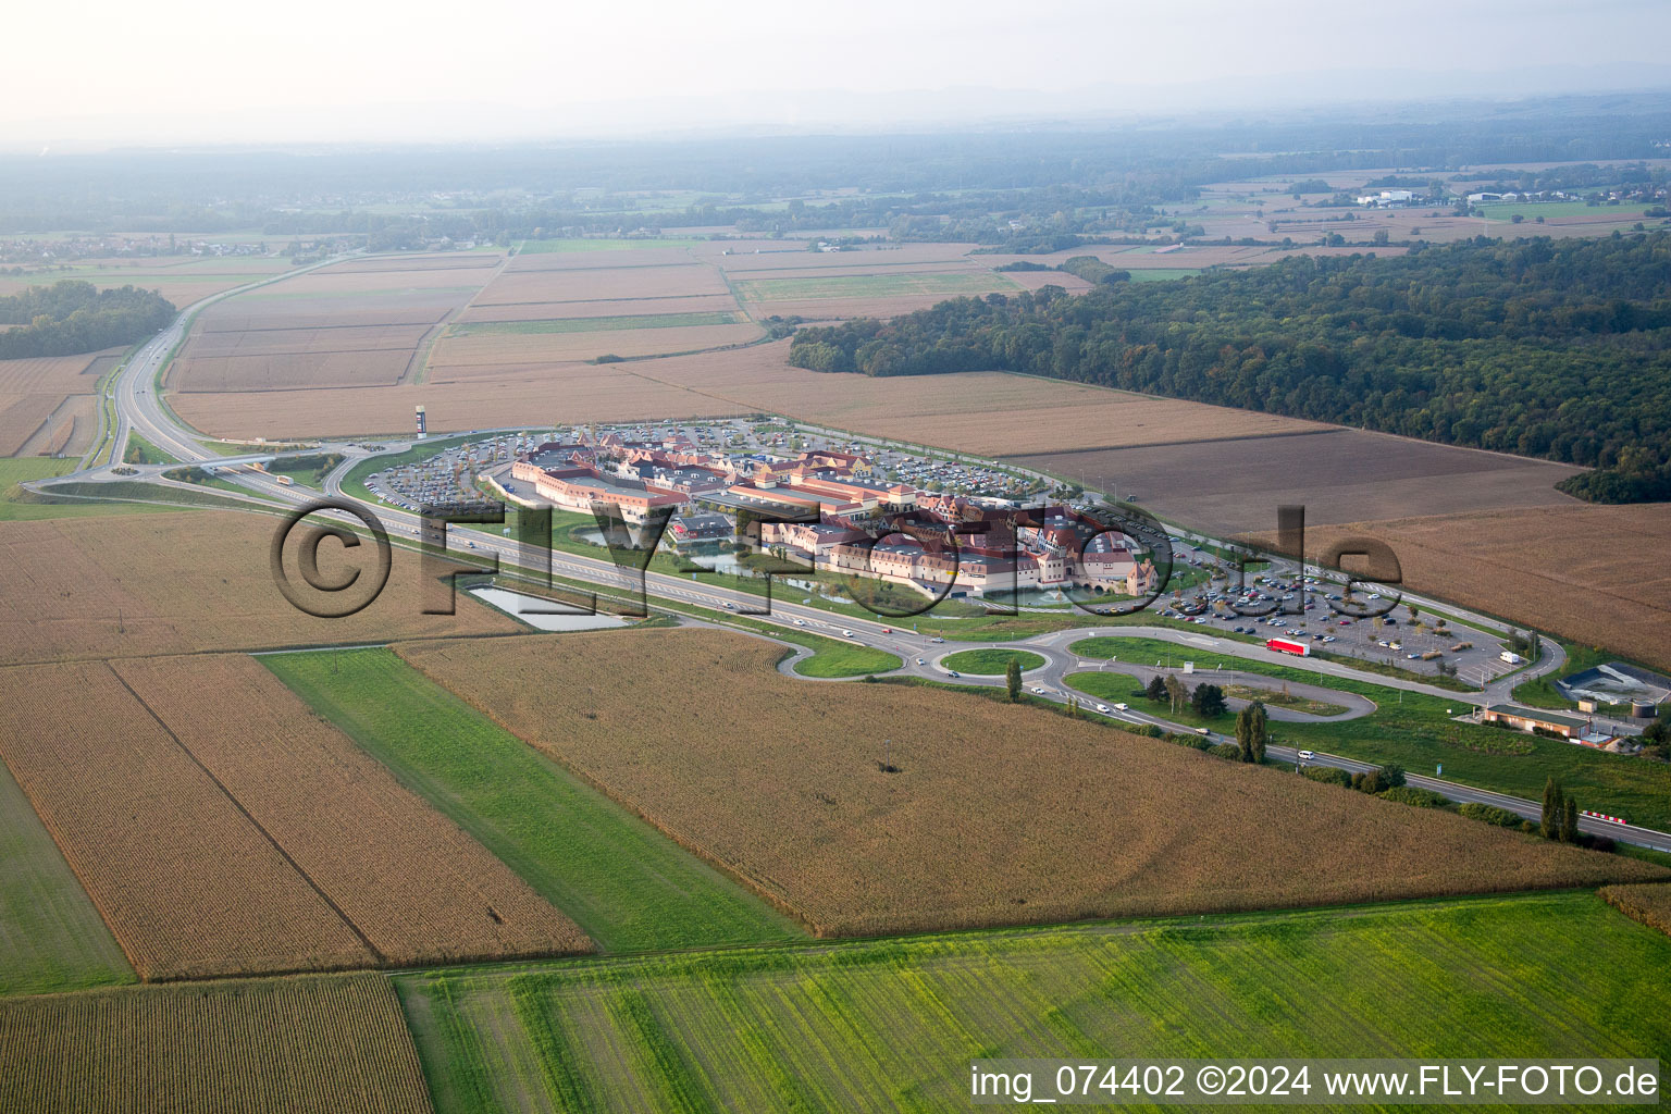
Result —
M 1193 681 L 1211 680 L 1210 671 L 1222 663 L 1227 670 L 1369 696 L 1379 706 L 1360 720 L 1272 723 L 1272 733 L 1278 743 L 1310 747 L 1364 762 L 1397 762 L 1412 773 L 1434 773 L 1435 767 L 1442 765 L 1445 780 L 1531 800 L 1542 798 L 1544 782 L 1556 777 L 1577 798 L 1581 808 L 1596 808 L 1653 828 L 1671 827 L 1671 767 L 1521 732 L 1457 723 L 1450 717 L 1467 710 L 1467 705 L 1459 701 L 1312 673 L 1258 658 L 1215 655 L 1155 638 L 1084 638 L 1073 643 L 1071 650 L 1083 658 L 1106 658 L 1115 653 L 1121 661 L 1143 665 L 1170 660 L 1171 665 L 1181 666 L 1186 660 L 1195 661 L 1198 675 Z M 1086 676 L 1100 675 L 1078 673 L 1069 680 L 1078 685 L 1076 678 Z M 1111 678 L 1106 683 L 1116 693 L 1140 688 L 1130 676 L 1105 676 Z M 1125 696 L 1115 695 L 1115 698 Z M 1190 727 L 1225 728 L 1230 723 L 1228 718 L 1205 723 L 1191 718 L 1193 711 L 1173 717 L 1160 705 L 1136 706 Z

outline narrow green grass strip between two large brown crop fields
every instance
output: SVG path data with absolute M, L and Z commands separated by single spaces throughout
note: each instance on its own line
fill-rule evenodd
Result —
M 760 899 L 391 650 L 262 665 L 612 952 L 784 940 Z

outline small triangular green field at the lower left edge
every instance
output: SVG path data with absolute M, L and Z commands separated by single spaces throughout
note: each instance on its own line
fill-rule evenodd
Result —
M 0 995 L 134 980 L 92 899 L 0 763 Z

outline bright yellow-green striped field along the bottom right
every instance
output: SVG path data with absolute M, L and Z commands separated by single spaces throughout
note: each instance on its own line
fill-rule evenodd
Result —
M 1606 957 L 1606 962 L 1596 962 Z M 436 1107 L 966 1109 L 976 1057 L 1671 1059 L 1592 894 L 396 975 Z

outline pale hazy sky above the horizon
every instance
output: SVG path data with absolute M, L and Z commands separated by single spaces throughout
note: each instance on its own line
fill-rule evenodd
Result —
M 1666 80 L 1644 67 L 1671 3 L 60 0 L 5 23 L 28 48 L 0 70 L 0 144 L 38 149 L 1629 87 Z

